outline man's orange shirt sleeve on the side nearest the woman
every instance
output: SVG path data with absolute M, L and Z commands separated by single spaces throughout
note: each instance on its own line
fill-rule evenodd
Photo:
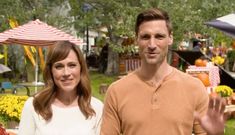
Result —
M 106 93 L 101 124 L 101 135 L 119 135 L 121 122 L 118 115 L 117 98 L 114 86 L 111 85 Z

